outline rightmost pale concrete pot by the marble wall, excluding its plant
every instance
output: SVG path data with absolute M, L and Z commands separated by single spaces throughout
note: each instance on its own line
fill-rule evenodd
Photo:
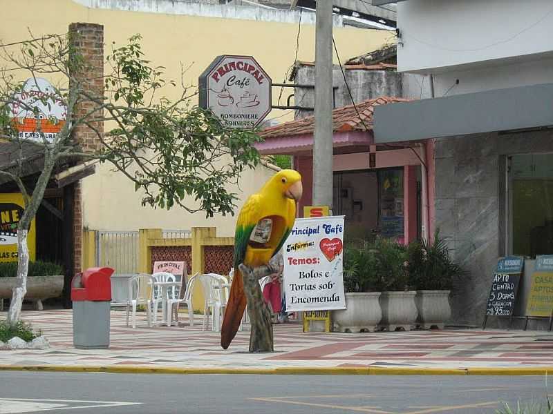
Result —
M 421 328 L 436 326 L 443 329 L 444 322 L 451 317 L 449 290 L 417 290 L 415 304 L 419 313 L 417 322 Z

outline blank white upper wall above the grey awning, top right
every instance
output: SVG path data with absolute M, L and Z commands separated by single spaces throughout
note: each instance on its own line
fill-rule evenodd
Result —
M 553 56 L 551 0 L 402 1 L 397 27 L 400 71 L 440 72 Z

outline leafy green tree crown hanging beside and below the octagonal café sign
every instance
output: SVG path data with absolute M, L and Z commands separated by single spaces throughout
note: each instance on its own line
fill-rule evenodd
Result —
M 117 127 L 108 132 L 102 161 L 134 181 L 144 193 L 142 205 L 233 215 L 237 197 L 228 184 L 237 184 L 243 170 L 259 163 L 254 144 L 261 139 L 254 130 L 228 128 L 209 110 L 189 106 L 195 94 L 186 96 L 186 88 L 176 102 L 154 101 L 158 90 L 176 83 L 163 79 L 165 68 L 143 59 L 140 39 L 131 37 L 108 57 L 113 73 L 105 86 L 115 105 L 106 110 Z M 129 167 L 138 170 L 131 174 Z M 185 206 L 190 201 L 195 208 Z

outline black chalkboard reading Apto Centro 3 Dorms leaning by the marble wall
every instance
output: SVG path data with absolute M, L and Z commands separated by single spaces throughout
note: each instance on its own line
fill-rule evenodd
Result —
M 513 315 L 518 282 L 521 281 L 523 266 L 523 257 L 509 256 L 498 261 L 489 290 L 484 328 L 489 315 L 509 317 Z

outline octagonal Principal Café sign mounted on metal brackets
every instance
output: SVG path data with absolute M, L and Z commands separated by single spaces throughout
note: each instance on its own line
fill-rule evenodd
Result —
M 225 126 L 255 128 L 271 111 L 271 78 L 251 56 L 218 56 L 198 82 L 200 108 Z

